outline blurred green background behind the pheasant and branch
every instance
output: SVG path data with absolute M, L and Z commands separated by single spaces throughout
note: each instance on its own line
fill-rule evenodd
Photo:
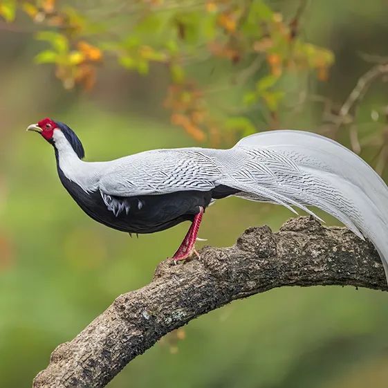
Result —
M 268 1 L 281 12 L 297 1 Z M 314 1 L 302 34 L 335 54 L 327 82 L 316 90 L 342 102 L 371 66 L 360 53 L 387 55 L 386 1 Z M 150 281 L 172 255 L 188 225 L 130 239 L 89 219 L 57 178 L 53 150 L 28 124 L 49 116 L 82 139 L 87 160 L 109 160 L 145 149 L 196 146 L 173 127 L 163 108 L 163 68 L 147 77 L 102 66 L 92 91 L 64 91 L 50 66 L 33 56 L 41 43 L 23 21 L 0 24 L 0 387 L 30 387 L 50 352 L 71 340 L 120 293 Z M 210 66 L 211 67 L 211 66 Z M 228 67 L 216 68 L 226 84 Z M 207 65 L 192 70 L 210 80 Z M 196 74 L 197 72 L 197 74 Z M 233 99 L 233 89 L 213 95 Z M 373 107 L 388 103 L 379 82 L 360 107 L 362 136 L 376 133 Z M 266 122 L 257 119 L 257 129 Z M 284 116 L 283 127 L 322 124 L 311 102 Z M 340 139 L 342 137 L 340 136 Z M 343 136 L 347 144 L 347 136 Z M 373 160 L 372 154 L 366 158 Z M 245 228 L 277 230 L 292 214 L 238 199 L 210 207 L 200 237 L 230 246 Z M 335 223 L 325 216 L 328 223 Z M 198 245 L 203 245 L 199 243 Z M 281 288 L 233 302 L 167 335 L 133 360 L 111 388 L 386 388 L 388 296 L 341 287 Z

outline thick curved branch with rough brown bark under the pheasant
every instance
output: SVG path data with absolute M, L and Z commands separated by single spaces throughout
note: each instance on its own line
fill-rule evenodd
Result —
M 160 263 L 151 283 L 120 295 L 59 345 L 33 387 L 104 387 L 163 335 L 199 315 L 275 287 L 329 284 L 387 290 L 371 243 L 308 217 L 288 221 L 277 233 L 249 228 L 230 248 L 206 247 L 201 259 Z

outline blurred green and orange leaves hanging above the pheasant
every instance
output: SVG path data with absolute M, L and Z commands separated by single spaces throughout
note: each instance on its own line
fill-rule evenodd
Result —
M 96 68 L 112 57 L 119 66 L 142 75 L 150 66 L 166 66 L 170 85 L 165 107 L 172 111 L 172 123 L 198 142 L 215 144 L 228 133 L 246 136 L 255 131 L 252 120 L 239 112 L 250 107 L 264 110 L 275 125 L 286 96 L 278 86 L 282 77 L 310 72 L 324 81 L 333 64 L 330 50 L 299 35 L 303 3 L 290 19 L 263 0 L 138 0 L 116 3 L 117 10 L 111 7 L 109 17 L 103 18 L 55 0 L 0 4 L 6 21 L 13 21 L 21 10 L 38 26 L 35 37 L 48 47 L 35 62 L 54 64 L 65 89 L 91 89 Z M 209 91 L 192 75 L 201 58 L 212 68 L 232 65 L 230 88 L 240 89 L 234 104 L 237 113 L 217 115 L 208 108 Z M 254 86 L 244 86 L 248 82 Z

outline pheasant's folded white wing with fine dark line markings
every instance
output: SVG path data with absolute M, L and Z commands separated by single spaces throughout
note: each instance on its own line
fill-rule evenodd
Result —
M 211 151 L 158 149 L 118 159 L 100 179 L 100 192 L 128 197 L 212 190 L 221 169 Z

